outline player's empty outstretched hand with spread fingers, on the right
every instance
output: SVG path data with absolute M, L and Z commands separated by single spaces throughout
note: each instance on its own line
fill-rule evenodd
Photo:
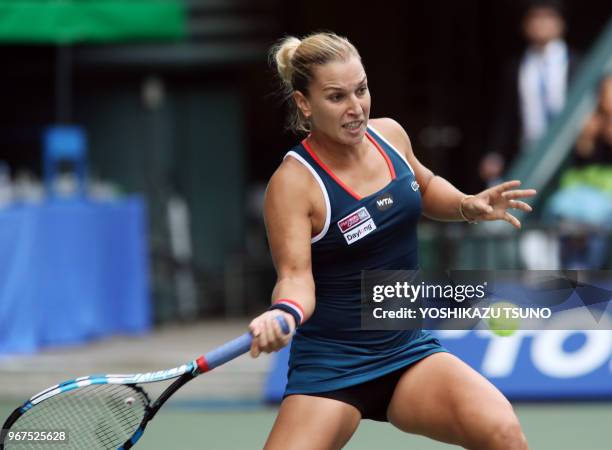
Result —
M 483 220 L 505 220 L 517 229 L 521 222 L 508 212 L 509 209 L 520 209 L 531 212 L 531 206 L 518 200 L 533 197 L 535 189 L 516 189 L 521 185 L 519 180 L 506 181 L 474 196 L 462 200 L 463 214 L 474 222 Z

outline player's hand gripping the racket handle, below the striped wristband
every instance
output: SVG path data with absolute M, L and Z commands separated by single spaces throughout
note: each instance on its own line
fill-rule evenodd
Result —
M 283 316 L 289 325 L 290 332 L 283 333 L 276 317 Z M 279 309 L 266 311 L 255 317 L 249 324 L 249 330 L 253 335 L 251 344 L 251 356 L 257 358 L 262 352 L 271 353 L 283 348 L 291 340 L 295 330 L 295 320 L 291 314 Z

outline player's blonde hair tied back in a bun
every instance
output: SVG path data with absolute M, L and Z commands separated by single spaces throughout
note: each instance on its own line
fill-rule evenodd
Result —
M 293 93 L 299 91 L 308 96 L 314 66 L 344 61 L 351 56 L 361 60 L 359 52 L 348 39 L 329 32 L 313 33 L 302 39 L 287 36 L 272 47 L 270 62 L 276 67 L 285 100 L 291 108 L 289 129 L 294 132 L 310 132 L 310 123 L 295 103 Z

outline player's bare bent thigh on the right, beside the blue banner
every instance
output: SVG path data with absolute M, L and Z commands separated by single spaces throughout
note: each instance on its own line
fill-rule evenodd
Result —
M 518 427 L 501 392 L 450 353 L 433 354 L 410 367 L 395 388 L 387 415 L 403 431 L 466 448 L 487 448 L 483 440 L 491 434 Z

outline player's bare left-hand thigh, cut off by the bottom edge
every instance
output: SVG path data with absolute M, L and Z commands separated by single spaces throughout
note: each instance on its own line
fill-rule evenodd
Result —
M 281 407 L 265 450 L 335 450 L 351 438 L 361 414 L 352 405 L 323 397 L 290 395 Z

